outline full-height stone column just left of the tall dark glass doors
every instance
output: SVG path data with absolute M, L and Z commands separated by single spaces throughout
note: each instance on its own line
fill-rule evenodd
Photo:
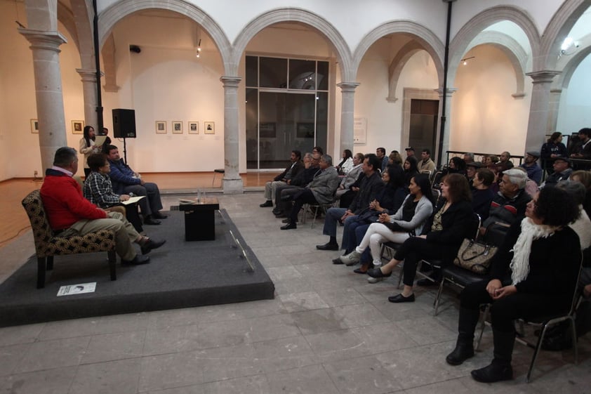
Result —
M 238 84 L 241 77 L 221 77 L 224 84 L 224 194 L 239 194 L 244 185 L 239 173 Z

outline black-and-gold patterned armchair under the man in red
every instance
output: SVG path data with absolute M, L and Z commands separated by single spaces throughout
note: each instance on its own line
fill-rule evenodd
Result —
M 53 269 L 53 256 L 65 254 L 107 251 L 111 280 L 117 279 L 115 271 L 115 233 L 110 230 L 91 232 L 84 237 L 59 237 L 53 235 L 39 190 L 34 190 L 22 200 L 27 211 L 37 255 L 37 289 L 45 287 L 45 271 Z

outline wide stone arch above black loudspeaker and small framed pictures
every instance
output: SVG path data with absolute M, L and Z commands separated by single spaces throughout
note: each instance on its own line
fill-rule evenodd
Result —
M 193 4 L 186 3 L 182 0 L 168 0 L 166 2 L 156 0 L 123 0 L 112 4 L 112 6 L 109 6 L 109 8 L 105 9 L 105 11 L 102 11 L 98 18 L 99 46 L 102 48 L 114 25 L 119 22 L 119 20 L 125 18 L 131 13 L 146 9 L 173 11 L 175 13 L 185 15 L 187 18 L 197 22 L 201 27 L 203 27 L 207 34 L 209 34 L 213 40 L 213 44 L 215 44 L 215 46 L 220 51 L 220 56 L 225 65 L 225 69 L 227 70 L 228 62 L 231 58 L 232 48 L 230 46 L 230 41 L 228 41 L 227 37 L 225 36 L 225 33 L 221 27 L 204 11 L 202 11 L 200 8 L 197 8 Z

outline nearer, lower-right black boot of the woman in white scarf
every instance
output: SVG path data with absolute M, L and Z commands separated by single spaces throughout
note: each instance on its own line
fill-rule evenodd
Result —
M 514 332 L 503 332 L 493 329 L 493 342 L 495 346 L 494 358 L 490 365 L 470 372 L 475 381 L 482 383 L 494 383 L 496 381 L 508 381 L 513 379 L 511 357 L 515 343 Z

